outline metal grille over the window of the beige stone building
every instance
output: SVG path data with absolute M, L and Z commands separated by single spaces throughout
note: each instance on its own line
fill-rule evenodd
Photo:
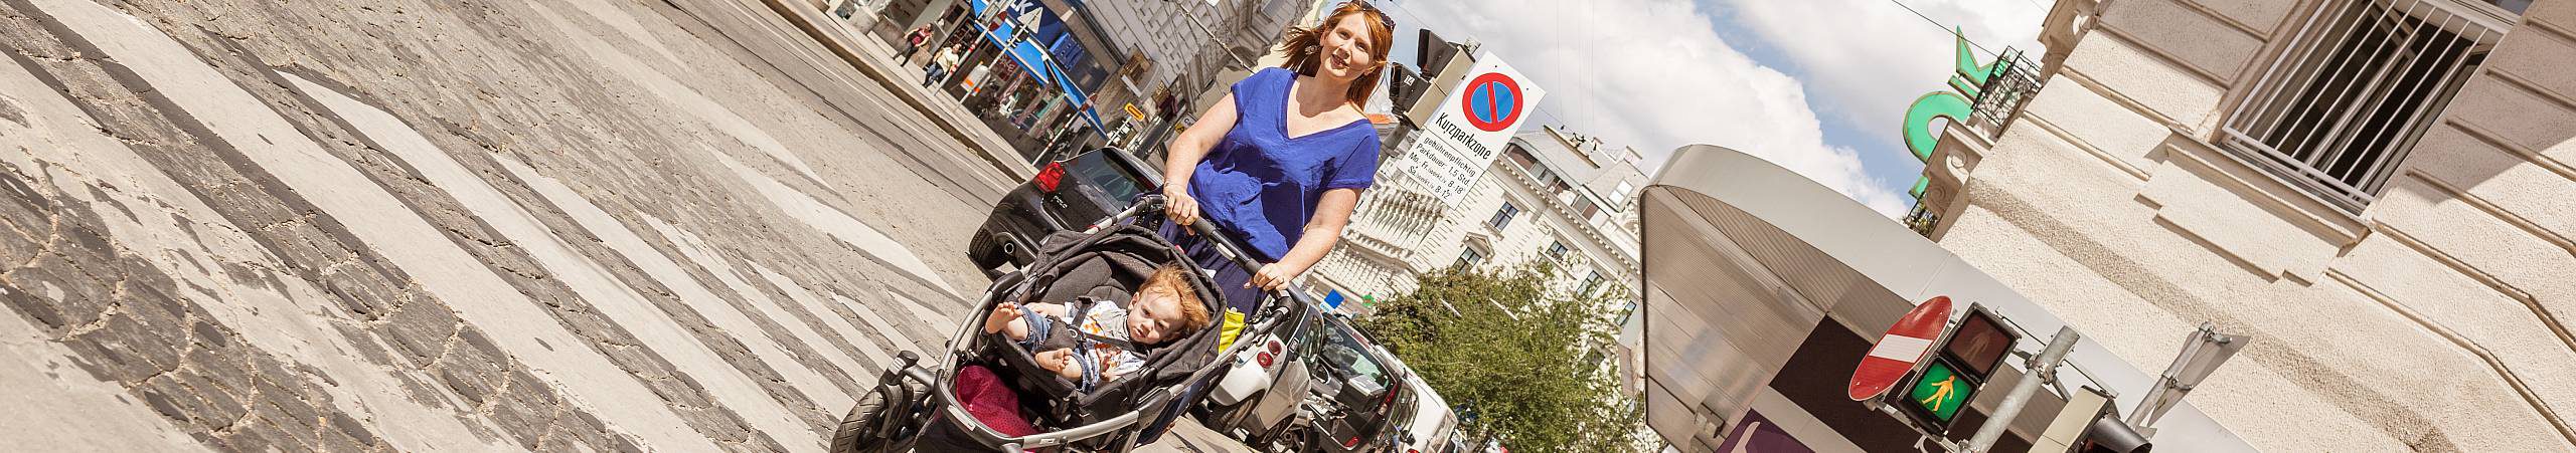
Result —
M 2228 113 L 2221 142 L 2357 214 L 2486 62 L 2504 13 L 2458 0 L 2324 3 Z

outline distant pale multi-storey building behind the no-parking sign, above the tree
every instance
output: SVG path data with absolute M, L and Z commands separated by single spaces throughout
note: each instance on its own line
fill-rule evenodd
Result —
M 1396 154 L 1386 162 L 1401 162 Z M 1306 273 L 1306 288 L 1365 306 L 1409 293 L 1417 275 L 1440 268 L 1548 260 L 1564 291 L 1636 293 L 1633 196 L 1646 185 L 1638 160 L 1631 147 L 1543 126 L 1515 134 L 1455 203 L 1419 190 L 1401 170 L 1381 170 L 1342 245 Z

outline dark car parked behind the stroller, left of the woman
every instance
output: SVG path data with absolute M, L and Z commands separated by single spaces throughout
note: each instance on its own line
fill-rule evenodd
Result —
M 1103 147 L 1046 162 L 992 206 L 992 216 L 966 242 L 966 260 L 987 275 L 1002 265 L 1028 265 L 1041 237 L 1087 229 L 1144 193 L 1162 193 L 1162 172 L 1126 149 Z

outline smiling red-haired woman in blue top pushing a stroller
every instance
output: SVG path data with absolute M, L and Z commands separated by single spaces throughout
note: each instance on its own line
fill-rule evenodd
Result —
M 1303 275 L 1332 252 L 1360 190 L 1376 183 L 1378 134 L 1360 113 L 1394 39 L 1394 21 L 1368 3 L 1345 3 L 1316 28 L 1291 28 L 1285 67 L 1234 82 L 1198 124 L 1172 139 L 1164 160 L 1164 237 L 1200 268 L 1213 268 L 1226 304 L 1252 311 L 1255 288 Z M 1200 216 L 1206 214 L 1206 216 Z M 1226 263 L 1195 221 L 1249 247 L 1257 270 Z

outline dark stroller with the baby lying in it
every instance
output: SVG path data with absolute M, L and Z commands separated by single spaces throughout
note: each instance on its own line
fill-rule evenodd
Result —
M 1123 378 L 1100 384 L 1090 394 L 1074 391 L 1072 381 L 1041 371 L 1028 350 L 999 335 L 987 335 L 984 314 L 1002 301 L 1072 301 L 1090 296 L 1097 301 L 1126 301 L 1157 265 L 1190 257 L 1149 224 L 1159 224 L 1162 196 L 1144 196 L 1126 211 L 1103 219 L 1087 232 L 1056 232 L 1038 245 L 1038 260 L 1028 268 L 994 278 L 948 350 L 930 363 L 904 350 L 896 363 L 878 376 L 876 389 L 858 399 L 858 407 L 832 435 L 832 453 L 878 450 L 1131 450 L 1151 443 L 1172 422 L 1206 396 L 1213 381 L 1229 371 L 1221 358 L 1234 358 L 1247 342 L 1218 350 L 1224 322 L 1175 337 L 1167 345 L 1144 350 L 1144 368 Z M 1154 216 L 1154 219 L 1139 219 Z M 1252 265 L 1239 245 L 1216 234 L 1206 221 L 1193 224 L 1200 237 L 1211 237 L 1218 252 L 1236 265 Z M 1195 268 L 1195 265 L 1193 265 Z M 1208 314 L 1224 314 L 1226 301 L 1208 273 L 1185 273 Z M 1257 337 L 1288 327 L 1303 317 L 1311 301 L 1296 291 L 1273 291 L 1244 314 L 1236 337 Z M 1221 317 L 1218 317 L 1221 319 Z M 1005 435 L 966 409 L 958 399 L 958 376 L 969 365 L 989 368 L 1020 396 L 1020 417 L 1036 425 L 1033 435 Z

